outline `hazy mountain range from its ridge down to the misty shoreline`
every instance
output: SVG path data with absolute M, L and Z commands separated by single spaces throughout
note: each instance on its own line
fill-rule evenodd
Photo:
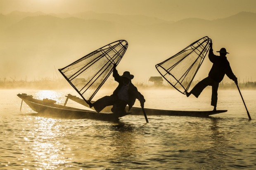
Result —
M 64 67 L 105 44 L 124 39 L 129 46 L 120 66 L 124 70 L 134 70 L 134 74 L 143 79 L 158 75 L 154 68 L 156 63 L 204 36 L 213 40 L 216 51 L 220 47 L 231 51 L 230 63 L 239 76 L 256 74 L 255 69 L 250 70 L 256 62 L 253 51 L 256 47 L 256 13 L 251 12 L 216 20 L 165 21 L 144 15 L 15 11 L 0 14 L 0 23 L 0 78 L 52 76 L 56 74 L 55 66 Z M 241 64 L 248 67 L 239 70 Z M 206 62 L 205 67 L 209 65 Z M 19 67 L 22 69 L 16 70 Z

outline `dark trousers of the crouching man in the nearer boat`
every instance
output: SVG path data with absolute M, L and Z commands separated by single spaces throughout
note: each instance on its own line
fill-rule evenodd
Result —
M 125 111 L 125 107 L 127 105 L 127 102 L 120 100 L 117 95 L 106 95 L 97 101 L 93 103 L 95 107 L 97 107 L 97 110 L 100 112 L 102 109 L 104 109 L 107 106 L 113 106 L 111 111 L 113 113 L 122 114 Z

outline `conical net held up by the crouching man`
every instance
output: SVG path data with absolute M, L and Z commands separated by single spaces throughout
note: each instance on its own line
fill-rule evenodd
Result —
M 113 71 L 113 63 L 118 65 L 127 47 L 126 40 L 112 42 L 59 71 L 89 103 Z

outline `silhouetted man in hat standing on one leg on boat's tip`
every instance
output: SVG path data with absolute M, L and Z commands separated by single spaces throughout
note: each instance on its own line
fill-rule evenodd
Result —
M 221 48 L 220 56 L 213 54 L 212 42 L 210 43 L 209 50 L 209 60 L 213 63 L 212 68 L 209 72 L 208 77 L 198 82 L 190 92 L 185 91 L 187 97 L 193 94 L 196 98 L 201 94 L 201 92 L 206 88 L 206 86 L 212 86 L 211 94 L 211 105 L 214 107 L 213 111 L 216 111 L 217 100 L 218 100 L 218 86 L 219 83 L 223 80 L 224 76 L 227 75 L 232 79 L 235 84 L 237 84 L 237 77 L 235 77 L 230 64 L 227 60 L 226 55 L 229 54 L 225 48 Z

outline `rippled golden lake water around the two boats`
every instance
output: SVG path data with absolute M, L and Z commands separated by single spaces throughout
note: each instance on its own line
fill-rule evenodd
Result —
M 211 90 L 199 98 L 175 90 L 139 89 L 146 108 L 211 110 Z M 211 118 L 128 115 L 119 122 L 36 116 L 18 93 L 64 104 L 74 90 L 0 90 L 1 170 L 256 169 L 256 91 L 219 90 Z M 99 91 L 95 98 L 109 95 Z M 71 100 L 67 106 L 84 108 Z M 139 106 L 136 101 L 135 106 Z

